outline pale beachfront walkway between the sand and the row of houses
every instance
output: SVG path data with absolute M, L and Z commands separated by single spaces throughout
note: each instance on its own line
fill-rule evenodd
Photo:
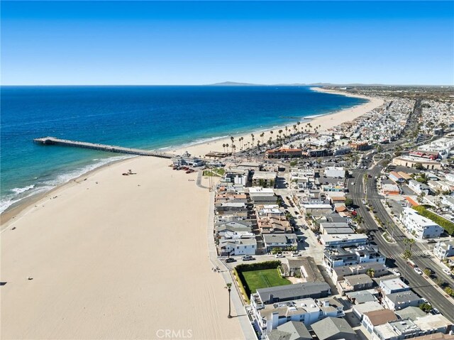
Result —
M 218 259 L 218 253 L 216 252 L 216 246 L 214 244 L 213 229 L 214 229 L 214 194 L 215 192 L 210 192 L 210 204 L 209 204 L 209 214 L 207 221 L 207 241 L 208 241 L 208 252 L 209 259 L 213 268 L 219 268 L 221 270 L 221 275 L 226 283 L 232 283 L 231 290 L 231 302 L 233 306 L 233 317 L 238 318 L 240 322 L 241 329 L 243 329 L 243 334 L 245 339 L 257 339 L 255 331 L 250 324 L 250 319 L 248 314 L 243 306 L 243 302 L 240 297 L 240 292 L 238 292 L 238 287 L 236 285 L 236 280 L 233 278 L 233 275 L 226 265 Z M 226 316 L 227 317 L 227 316 Z

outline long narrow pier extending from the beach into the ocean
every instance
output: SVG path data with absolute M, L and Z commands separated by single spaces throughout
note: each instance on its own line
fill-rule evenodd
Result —
M 135 149 L 135 148 L 123 148 L 121 146 L 108 146 L 105 144 L 87 143 L 79 141 L 70 141 L 67 139 L 60 139 L 55 137 L 43 137 L 33 139 L 35 143 L 43 145 L 57 145 L 57 146 L 72 146 L 76 148 L 87 148 L 93 150 L 107 151 L 110 153 L 126 153 L 128 155 L 141 155 L 141 156 L 153 156 L 159 158 L 173 158 L 175 155 L 172 153 L 158 153 L 156 151 Z

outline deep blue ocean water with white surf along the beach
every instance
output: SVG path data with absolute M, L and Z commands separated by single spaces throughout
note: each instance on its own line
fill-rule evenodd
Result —
M 0 212 L 126 156 L 40 146 L 58 138 L 158 149 L 233 136 L 365 102 L 308 87 L 0 87 Z

